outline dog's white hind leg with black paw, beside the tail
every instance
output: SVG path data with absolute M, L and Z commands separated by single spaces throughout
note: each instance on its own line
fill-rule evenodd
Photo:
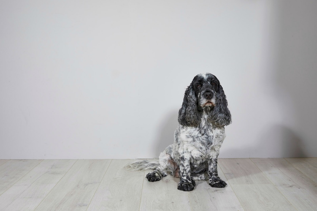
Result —
M 146 175 L 146 178 L 150 182 L 155 182 L 161 180 L 163 177 L 167 176 L 167 172 L 174 172 L 176 169 L 176 163 L 173 162 L 169 152 L 171 145 L 168 146 L 164 152 L 159 155 L 159 166 Z

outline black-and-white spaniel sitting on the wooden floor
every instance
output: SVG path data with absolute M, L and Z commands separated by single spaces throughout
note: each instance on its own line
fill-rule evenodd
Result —
M 174 143 L 159 159 L 136 161 L 127 167 L 131 171 L 154 169 L 146 175 L 150 182 L 170 173 L 180 178 L 177 189 L 183 191 L 193 190 L 195 180 L 209 180 L 211 187 L 224 188 L 227 184 L 218 176 L 217 159 L 231 114 L 216 76 L 205 73 L 194 77 L 185 91 L 178 123 Z

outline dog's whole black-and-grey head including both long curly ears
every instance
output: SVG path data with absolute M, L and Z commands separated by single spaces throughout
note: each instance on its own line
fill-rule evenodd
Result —
M 198 74 L 187 87 L 178 122 L 183 126 L 198 127 L 203 112 L 216 127 L 231 123 L 226 95 L 217 77 L 210 73 Z

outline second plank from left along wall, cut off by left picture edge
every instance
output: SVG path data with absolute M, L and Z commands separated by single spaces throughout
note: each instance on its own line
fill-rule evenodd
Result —
M 26 175 L 42 160 L 9 160 L 0 165 L 0 194 Z

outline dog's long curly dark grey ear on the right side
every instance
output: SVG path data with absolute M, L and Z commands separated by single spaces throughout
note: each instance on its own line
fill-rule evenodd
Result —
M 231 124 L 231 114 L 228 109 L 228 102 L 222 86 L 218 85 L 217 105 L 208 117 L 208 120 L 217 127 L 224 127 Z

